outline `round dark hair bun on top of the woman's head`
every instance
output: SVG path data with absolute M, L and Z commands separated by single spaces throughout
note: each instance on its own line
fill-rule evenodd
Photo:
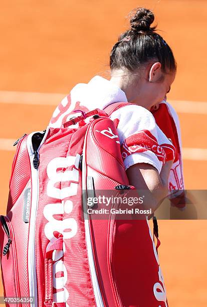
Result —
M 150 25 L 154 21 L 154 14 L 144 8 L 138 8 L 135 10 L 135 14 L 130 19 L 132 31 L 153 31 L 156 27 L 150 28 Z

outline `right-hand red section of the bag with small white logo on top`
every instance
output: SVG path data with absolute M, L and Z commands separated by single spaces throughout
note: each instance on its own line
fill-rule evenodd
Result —
M 90 126 L 86 139 L 86 175 L 94 178 L 96 190 L 113 191 L 118 183 L 128 184 L 117 134 L 109 119 L 100 118 Z M 94 160 L 94 157 L 99 159 Z M 120 220 L 113 216 L 109 219 L 92 219 L 90 226 L 95 265 L 105 305 L 168 306 L 158 255 L 147 220 Z

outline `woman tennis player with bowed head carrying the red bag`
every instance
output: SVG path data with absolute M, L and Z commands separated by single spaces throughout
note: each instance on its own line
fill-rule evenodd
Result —
M 134 12 L 130 28 L 112 48 L 110 81 L 95 76 L 88 84 L 77 84 L 71 90 L 70 105 L 64 101 L 64 107 L 57 107 L 50 126 L 61 126 L 73 109 L 87 111 L 104 109 L 113 102 L 133 103 L 113 112 L 111 119 L 117 124 L 130 183 L 136 189 L 150 190 L 153 197 L 149 206 L 155 211 L 159 200 L 168 193 L 174 152 L 149 110 L 156 110 L 166 99 L 175 78 L 176 62 L 168 44 L 155 32 L 155 27 L 150 27 L 153 13 L 144 8 Z

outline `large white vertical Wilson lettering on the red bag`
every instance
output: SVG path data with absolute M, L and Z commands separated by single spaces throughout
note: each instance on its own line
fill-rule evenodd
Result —
M 76 169 L 66 170 L 63 172 L 57 172 L 59 168 L 68 168 L 75 165 L 76 157 L 66 157 L 66 158 L 55 158 L 49 162 L 47 167 L 47 175 L 49 182 L 47 185 L 47 195 L 54 199 L 60 200 L 56 204 L 48 204 L 44 208 L 44 216 L 48 223 L 45 225 L 45 235 L 53 243 L 57 240 L 54 237 L 54 232 L 59 232 L 63 235 L 63 239 L 70 239 L 74 237 L 78 230 L 77 222 L 74 218 L 66 218 L 64 220 L 56 220 L 53 215 L 71 213 L 73 210 L 73 203 L 70 200 L 64 201 L 65 198 L 69 196 L 74 196 L 78 192 L 78 182 L 79 182 L 79 172 Z M 73 180 L 69 187 L 57 188 L 56 184 Z M 74 183 L 75 182 L 75 183 Z M 67 231 L 69 230 L 70 231 Z M 67 270 L 64 265 L 63 260 L 60 258 L 63 256 L 65 251 L 65 243 L 63 243 L 63 250 L 56 250 L 55 255 L 53 255 L 53 260 L 56 261 L 53 264 L 53 286 L 59 290 L 54 294 L 54 301 L 65 302 L 69 297 L 68 290 L 65 285 L 67 282 Z M 59 277 L 57 277 L 59 276 Z M 60 289 L 63 289 L 60 291 Z M 66 303 L 66 306 L 68 304 Z

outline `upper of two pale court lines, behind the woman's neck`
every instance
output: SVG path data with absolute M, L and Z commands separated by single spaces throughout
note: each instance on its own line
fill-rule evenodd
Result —
M 0 91 L 0 103 L 58 105 L 66 94 Z M 207 114 L 207 102 L 167 100 L 178 113 Z

